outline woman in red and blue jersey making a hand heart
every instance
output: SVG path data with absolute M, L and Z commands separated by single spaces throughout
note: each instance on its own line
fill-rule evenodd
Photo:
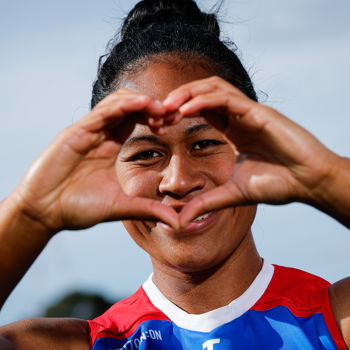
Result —
M 215 16 L 143 1 L 99 69 L 92 110 L 1 206 L 2 302 L 50 238 L 123 220 L 154 273 L 85 322 L 2 328 L 8 349 L 346 348 L 348 280 L 259 256 L 256 204 L 308 203 L 350 227 L 350 162 L 256 102 Z M 292 145 L 292 147 L 291 147 Z M 16 254 L 14 254 L 16 252 Z

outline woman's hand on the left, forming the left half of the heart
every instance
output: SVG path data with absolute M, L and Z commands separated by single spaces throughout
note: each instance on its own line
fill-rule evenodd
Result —
M 160 102 L 127 89 L 107 96 L 58 135 L 8 199 L 51 233 L 121 219 L 160 220 L 176 228 L 174 209 L 125 195 L 115 171 L 122 142 L 116 131 L 127 137 L 136 121 L 147 124 L 150 115 L 165 112 Z

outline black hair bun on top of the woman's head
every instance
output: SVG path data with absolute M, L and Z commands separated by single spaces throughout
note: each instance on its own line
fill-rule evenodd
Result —
M 152 26 L 169 24 L 201 26 L 220 36 L 216 15 L 201 12 L 193 0 L 143 0 L 126 17 L 121 31 L 122 40 Z

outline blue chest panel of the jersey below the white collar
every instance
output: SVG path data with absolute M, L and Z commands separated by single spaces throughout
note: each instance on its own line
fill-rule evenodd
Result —
M 320 313 L 296 317 L 279 306 L 248 311 L 208 333 L 186 330 L 171 321 L 143 322 L 128 338 L 99 338 L 93 350 L 169 349 L 334 349 L 336 346 Z

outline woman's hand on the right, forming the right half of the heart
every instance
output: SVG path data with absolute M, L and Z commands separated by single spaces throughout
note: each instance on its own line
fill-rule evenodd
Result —
M 232 178 L 193 199 L 180 215 L 181 226 L 205 212 L 233 205 L 312 201 L 331 173 L 335 155 L 311 134 L 272 108 L 252 101 L 218 77 L 191 82 L 164 101 L 182 117 L 201 114 L 238 151 Z

